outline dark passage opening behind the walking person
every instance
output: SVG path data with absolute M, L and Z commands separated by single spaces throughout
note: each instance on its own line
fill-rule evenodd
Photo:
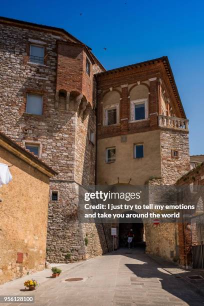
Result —
M 119 223 L 119 247 L 127 247 L 127 235 L 130 229 L 134 233 L 133 246 L 145 245 L 143 223 Z

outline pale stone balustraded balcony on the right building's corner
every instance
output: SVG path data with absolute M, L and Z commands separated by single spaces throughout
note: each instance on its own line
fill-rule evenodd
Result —
M 158 115 L 160 127 L 188 130 L 188 119 Z

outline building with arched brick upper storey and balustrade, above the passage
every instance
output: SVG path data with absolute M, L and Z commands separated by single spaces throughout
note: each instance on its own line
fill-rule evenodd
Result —
M 97 183 L 174 184 L 190 167 L 188 120 L 167 57 L 103 71 L 96 79 Z M 140 241 L 145 233 L 146 252 L 177 257 L 174 223 L 114 226 L 117 245 L 133 227 Z

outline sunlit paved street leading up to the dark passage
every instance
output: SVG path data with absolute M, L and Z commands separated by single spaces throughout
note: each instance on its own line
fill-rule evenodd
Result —
M 119 249 L 84 262 L 61 265 L 61 268 L 63 272 L 58 278 L 49 278 L 50 270 L 29 276 L 40 282 L 34 291 L 20 291 L 26 276 L 1 285 L 0 295 L 31 293 L 37 306 L 204 305 L 204 297 L 183 278 L 176 277 L 187 271 L 177 269 L 176 273 L 174 268 L 171 273 L 139 248 Z M 65 281 L 70 277 L 83 280 Z

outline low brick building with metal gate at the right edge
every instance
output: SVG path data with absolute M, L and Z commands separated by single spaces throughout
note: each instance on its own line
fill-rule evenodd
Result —
M 194 159 L 194 158 L 193 158 Z M 193 204 L 191 217 L 183 215 L 178 223 L 179 261 L 185 266 L 204 268 L 204 162 L 181 176 L 176 185 L 180 188 L 180 203 Z

